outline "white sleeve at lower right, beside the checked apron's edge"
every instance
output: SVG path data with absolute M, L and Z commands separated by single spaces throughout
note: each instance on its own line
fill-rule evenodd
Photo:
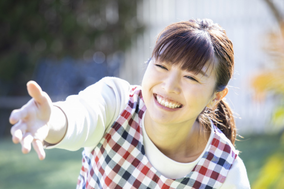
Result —
M 246 167 L 237 157 L 220 189 L 251 189 Z

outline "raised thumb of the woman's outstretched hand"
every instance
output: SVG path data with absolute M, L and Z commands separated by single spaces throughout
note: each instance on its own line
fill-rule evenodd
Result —
M 43 91 L 35 81 L 29 81 L 27 83 L 27 89 L 30 96 L 33 97 L 37 103 L 42 104 L 47 101 Z

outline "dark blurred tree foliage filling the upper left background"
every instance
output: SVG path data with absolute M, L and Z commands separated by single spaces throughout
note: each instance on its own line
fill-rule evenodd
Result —
M 138 0 L 1 0 L 0 95 L 21 94 L 41 58 L 125 50 L 143 30 Z M 25 87 L 24 87 L 25 88 Z

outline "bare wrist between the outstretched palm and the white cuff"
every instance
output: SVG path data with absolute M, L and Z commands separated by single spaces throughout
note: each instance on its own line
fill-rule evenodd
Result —
M 45 141 L 50 144 L 57 144 L 64 138 L 67 131 L 66 115 L 59 107 L 53 106 L 51 108 L 49 127 Z

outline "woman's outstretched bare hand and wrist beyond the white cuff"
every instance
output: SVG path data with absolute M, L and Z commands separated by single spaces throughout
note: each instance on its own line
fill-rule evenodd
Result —
M 62 140 L 67 129 L 64 113 L 52 106 L 48 94 L 40 86 L 30 81 L 28 93 L 32 99 L 19 110 L 13 110 L 10 116 L 12 140 L 20 142 L 24 154 L 31 151 L 31 144 L 39 159 L 45 158 L 42 142 L 57 143 Z

